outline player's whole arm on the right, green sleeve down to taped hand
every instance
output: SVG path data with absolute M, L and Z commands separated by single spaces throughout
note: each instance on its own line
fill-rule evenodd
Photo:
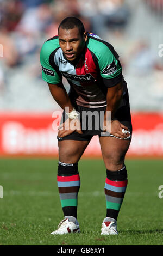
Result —
M 103 58 L 100 58 L 101 56 Z M 128 130 L 128 127 L 121 124 L 120 121 L 114 119 L 117 108 L 120 105 L 124 88 L 122 66 L 118 60 L 118 54 L 111 45 L 103 45 L 98 58 L 98 64 L 103 82 L 108 88 L 106 95 L 106 111 L 111 112 L 111 120 L 106 119 L 106 112 L 104 119 L 105 127 L 110 127 L 111 131 L 107 128 L 105 128 L 104 131 L 107 130 L 116 137 L 126 138 L 128 137 L 128 133 L 126 135 L 122 132 L 122 129 Z

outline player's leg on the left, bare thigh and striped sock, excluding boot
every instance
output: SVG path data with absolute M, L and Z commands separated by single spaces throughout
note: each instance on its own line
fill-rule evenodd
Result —
M 77 218 L 77 197 L 80 188 L 78 161 L 89 141 L 60 141 L 58 188 L 64 216 Z

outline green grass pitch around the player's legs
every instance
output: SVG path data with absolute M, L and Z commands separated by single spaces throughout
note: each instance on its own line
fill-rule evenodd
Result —
M 0 159 L 0 245 L 162 245 L 163 160 L 126 160 L 128 187 L 118 236 L 101 236 L 105 217 L 102 160 L 79 162 L 80 234 L 52 236 L 62 220 L 55 159 Z

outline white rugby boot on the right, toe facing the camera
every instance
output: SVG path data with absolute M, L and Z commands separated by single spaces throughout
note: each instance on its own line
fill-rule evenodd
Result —
M 108 221 L 107 219 L 103 220 L 101 235 L 118 235 L 116 220 L 109 218 L 110 221 Z

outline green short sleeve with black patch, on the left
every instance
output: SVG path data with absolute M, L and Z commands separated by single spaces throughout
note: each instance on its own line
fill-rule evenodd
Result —
M 62 81 L 61 74 L 57 69 L 49 63 L 49 56 L 52 51 L 46 42 L 43 44 L 40 52 L 40 63 L 42 69 L 42 79 L 48 83 L 60 83 Z

